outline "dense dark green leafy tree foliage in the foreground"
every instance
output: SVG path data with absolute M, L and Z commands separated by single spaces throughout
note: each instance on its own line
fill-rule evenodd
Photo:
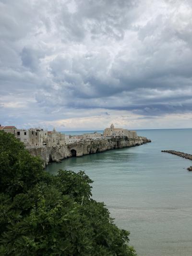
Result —
M 83 171 L 43 171 L 12 134 L 0 131 L 0 255 L 135 256 Z

